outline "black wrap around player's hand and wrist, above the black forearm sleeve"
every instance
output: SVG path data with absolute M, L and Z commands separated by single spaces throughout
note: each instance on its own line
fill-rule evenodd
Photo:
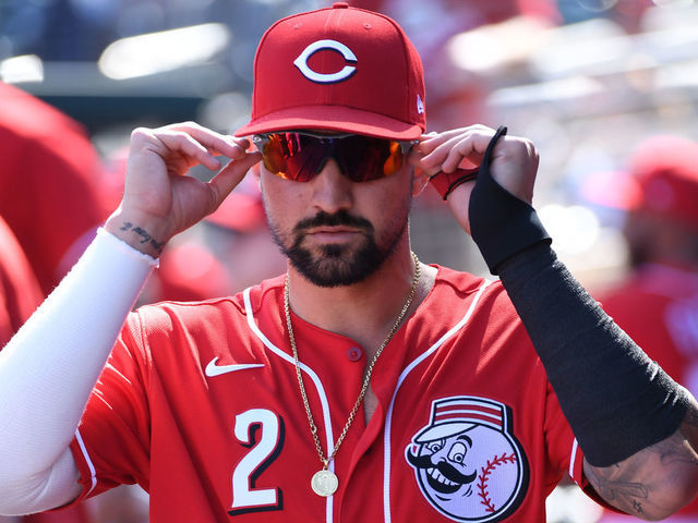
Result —
M 541 241 L 551 242 L 535 209 L 505 190 L 490 173 L 492 151 L 506 131 L 500 126 L 488 145 L 468 208 L 472 239 L 493 275 L 498 273 L 502 262 L 516 253 Z

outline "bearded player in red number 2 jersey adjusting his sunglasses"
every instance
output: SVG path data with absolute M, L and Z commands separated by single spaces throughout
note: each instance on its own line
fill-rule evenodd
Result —
M 241 137 L 133 133 L 120 207 L 0 354 L 0 513 L 122 483 L 154 522 L 544 521 L 563 474 L 645 519 L 694 496 L 695 400 L 556 260 L 529 141 L 424 134 L 414 48 L 344 3 L 267 31 L 253 98 Z M 130 314 L 257 162 L 287 272 Z M 501 281 L 411 253 L 430 178 Z

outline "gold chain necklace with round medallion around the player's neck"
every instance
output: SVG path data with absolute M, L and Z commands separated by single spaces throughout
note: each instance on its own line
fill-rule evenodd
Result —
M 414 260 L 414 276 L 412 277 L 412 287 L 410 289 L 410 293 L 407 296 L 407 301 L 405 302 L 405 305 L 402 305 L 402 309 L 400 311 L 400 314 L 395 320 L 393 328 L 390 329 L 388 335 L 385 337 L 385 340 L 383 340 L 383 343 L 381 343 L 381 345 L 378 346 L 378 350 L 373 356 L 373 360 L 371 360 L 371 363 L 369 364 L 369 368 L 366 369 L 366 376 L 363 379 L 361 392 L 359 392 L 359 398 L 357 398 L 357 402 L 353 404 L 353 409 L 351 409 L 351 412 L 349 413 L 349 418 L 347 419 L 347 424 L 345 425 L 345 428 L 341 430 L 339 438 L 337 438 L 335 448 L 333 449 L 333 451 L 329 453 L 327 458 L 325 458 L 323 448 L 320 445 L 320 437 L 317 436 L 317 426 L 315 425 L 315 422 L 313 419 L 313 414 L 310 410 L 310 403 L 308 401 L 308 394 L 305 393 L 305 387 L 303 386 L 301 366 L 298 360 L 298 349 L 296 346 L 296 338 L 293 337 L 293 327 L 291 326 L 291 313 L 290 313 L 289 299 L 288 299 L 288 294 L 289 294 L 288 275 L 286 276 L 286 283 L 284 285 L 284 313 L 286 314 L 286 325 L 288 326 L 288 336 L 291 341 L 291 350 L 293 351 L 293 362 L 296 364 L 296 376 L 298 377 L 298 386 L 301 390 L 301 397 L 303 398 L 303 406 L 305 408 L 305 414 L 308 414 L 308 423 L 310 424 L 310 431 L 313 435 L 313 440 L 315 441 L 315 449 L 317 450 L 317 455 L 320 457 L 320 461 L 323 464 L 323 467 L 320 471 L 317 471 L 313 475 L 313 478 L 311 479 L 311 487 L 313 491 L 318 496 L 327 497 L 327 496 L 332 496 L 337 491 L 337 487 L 339 486 L 339 481 L 337 479 L 337 476 L 335 475 L 335 473 L 328 470 L 329 462 L 337 454 L 337 451 L 339 450 L 339 446 L 345 440 L 345 437 L 349 431 L 349 427 L 353 423 L 357 412 L 359 411 L 359 406 L 361 406 L 363 397 L 366 394 L 366 391 L 369 390 L 369 384 L 371 382 L 371 373 L 373 373 L 373 366 L 375 365 L 375 362 L 378 360 L 378 356 L 383 352 L 383 349 L 385 349 L 385 345 L 388 344 L 388 342 L 397 331 L 398 327 L 400 326 L 400 323 L 402 321 L 402 318 L 405 318 L 407 311 L 410 308 L 410 305 L 412 304 L 412 300 L 414 299 L 414 293 L 417 292 L 417 284 L 419 283 L 421 271 L 419 267 L 419 259 L 417 258 L 417 255 L 414 253 L 412 253 L 412 259 Z

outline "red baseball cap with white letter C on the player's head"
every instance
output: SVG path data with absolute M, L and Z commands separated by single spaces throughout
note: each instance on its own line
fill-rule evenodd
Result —
M 425 125 L 414 46 L 388 16 L 340 2 L 267 29 L 254 59 L 252 115 L 236 135 L 318 129 L 408 141 Z

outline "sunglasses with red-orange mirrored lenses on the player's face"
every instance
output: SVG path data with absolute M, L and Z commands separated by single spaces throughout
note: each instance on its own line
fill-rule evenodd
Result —
M 334 159 L 352 182 L 371 182 L 395 174 L 413 142 L 396 142 L 358 134 L 322 135 L 308 132 L 255 134 L 252 142 L 269 172 L 293 182 L 310 182 Z

